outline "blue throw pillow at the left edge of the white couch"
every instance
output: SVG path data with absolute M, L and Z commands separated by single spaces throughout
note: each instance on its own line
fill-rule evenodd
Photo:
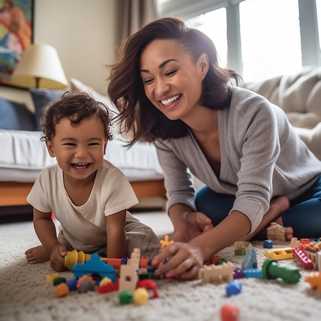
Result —
M 36 130 L 34 114 L 27 109 L 25 104 L 0 97 L 0 128 Z

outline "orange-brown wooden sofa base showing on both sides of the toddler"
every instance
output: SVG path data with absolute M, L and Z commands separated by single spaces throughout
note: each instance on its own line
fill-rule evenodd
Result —
M 164 180 L 130 182 L 137 198 L 160 196 L 166 198 Z M 0 214 L 2 207 L 25 206 L 33 183 L 0 182 Z

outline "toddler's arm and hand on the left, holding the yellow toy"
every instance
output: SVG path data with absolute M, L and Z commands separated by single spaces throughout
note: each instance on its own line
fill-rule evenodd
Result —
M 67 254 L 67 249 L 58 242 L 56 227 L 51 219 L 51 212 L 44 213 L 34 208 L 33 226 L 41 244 L 50 255 L 51 267 L 55 271 L 63 271 L 65 269 L 64 256 Z

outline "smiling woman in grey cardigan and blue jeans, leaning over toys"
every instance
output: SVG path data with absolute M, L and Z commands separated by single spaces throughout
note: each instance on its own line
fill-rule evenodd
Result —
M 177 18 L 137 31 L 111 68 L 128 146 L 153 142 L 165 174 L 176 242 L 152 260 L 156 274 L 193 278 L 235 241 L 266 237 L 273 221 L 288 240 L 321 236 L 321 162 L 285 113 L 238 79 L 212 41 Z M 196 194 L 190 172 L 206 184 Z

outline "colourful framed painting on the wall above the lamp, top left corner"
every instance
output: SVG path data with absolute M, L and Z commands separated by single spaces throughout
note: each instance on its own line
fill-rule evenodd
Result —
M 13 86 L 11 75 L 33 42 L 33 0 L 0 0 L 0 85 Z

